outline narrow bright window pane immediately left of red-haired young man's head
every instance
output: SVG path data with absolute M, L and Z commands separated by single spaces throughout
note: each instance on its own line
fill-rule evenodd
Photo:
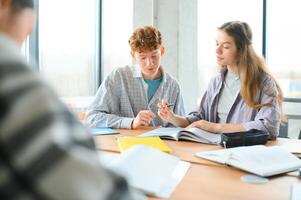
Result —
M 128 40 L 133 31 L 133 0 L 103 0 L 102 10 L 105 77 L 112 69 L 131 63 Z

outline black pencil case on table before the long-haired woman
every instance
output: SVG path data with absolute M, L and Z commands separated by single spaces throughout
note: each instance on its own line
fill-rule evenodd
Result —
M 268 137 L 268 133 L 257 129 L 251 129 L 243 132 L 222 133 L 220 145 L 225 148 L 232 148 L 238 146 L 266 144 Z

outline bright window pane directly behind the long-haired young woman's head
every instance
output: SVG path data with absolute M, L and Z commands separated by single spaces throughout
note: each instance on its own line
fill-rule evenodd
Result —
M 245 21 L 253 31 L 253 45 L 258 54 L 262 50 L 262 0 L 198 1 L 198 70 L 200 94 L 207 89 L 217 68 L 215 37 L 217 27 L 228 21 Z

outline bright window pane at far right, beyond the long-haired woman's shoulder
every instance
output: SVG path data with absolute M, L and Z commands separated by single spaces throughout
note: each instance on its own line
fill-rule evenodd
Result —
M 301 2 L 267 3 L 267 63 L 286 97 L 301 97 Z

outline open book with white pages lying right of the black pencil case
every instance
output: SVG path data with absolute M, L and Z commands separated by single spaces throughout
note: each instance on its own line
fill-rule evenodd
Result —
M 295 171 L 301 160 L 281 147 L 264 145 L 236 147 L 195 154 L 197 157 L 237 167 L 259 176 Z

